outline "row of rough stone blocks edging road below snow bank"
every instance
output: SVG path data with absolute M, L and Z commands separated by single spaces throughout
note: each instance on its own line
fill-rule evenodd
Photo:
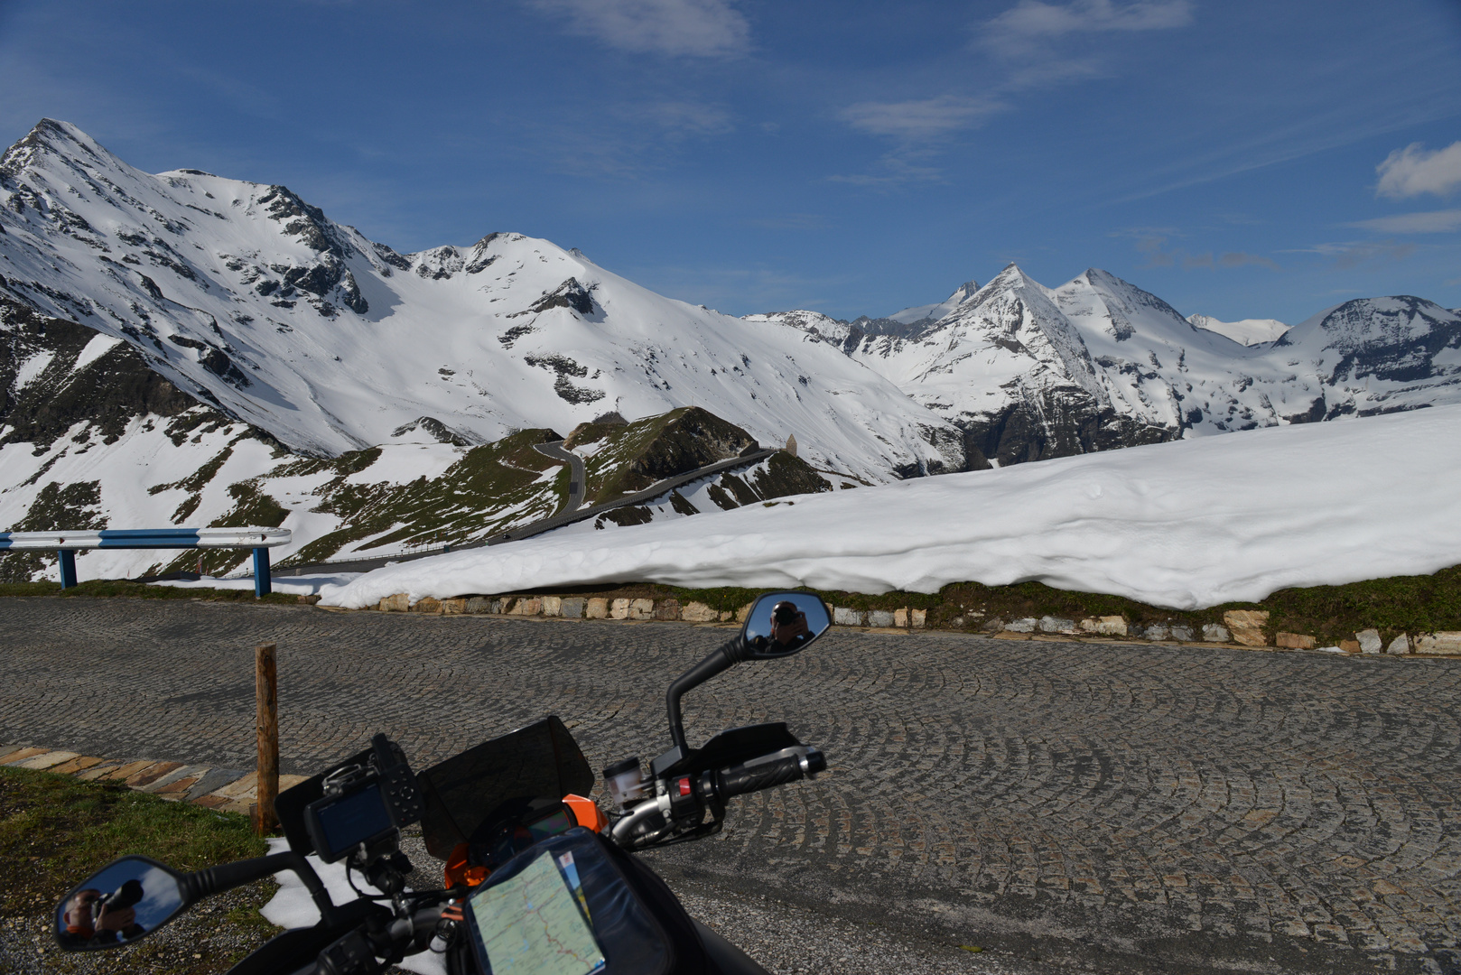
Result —
M 317 598 L 311 598 L 317 601 Z M 739 610 L 714 610 L 704 602 L 681 602 L 662 599 L 614 599 L 598 596 L 459 596 L 434 599 L 422 596 L 411 602 L 411 596 L 397 592 L 386 596 L 377 607 L 381 612 L 427 612 L 435 615 L 488 614 L 506 617 L 545 617 L 562 620 L 678 620 L 684 623 L 736 624 L 745 623 L 751 604 Z M 833 607 L 833 624 L 881 631 L 926 630 L 928 611 L 901 610 L 853 610 Z M 1303 633 L 1277 633 L 1270 642 L 1265 634 L 1267 610 L 1229 610 L 1223 623 L 1207 623 L 1199 629 L 1183 623 L 1134 624 L 1121 615 L 1067 620 L 1062 617 L 1023 617 L 1002 620 L 985 618 L 983 614 L 957 617 L 955 626 L 977 627 L 979 633 L 1001 639 L 1116 639 L 1147 640 L 1153 643 L 1191 643 L 1198 646 L 1229 646 L 1251 649 L 1319 650 L 1328 653 L 1388 653 L 1424 656 L 1461 656 L 1461 631 L 1423 633 L 1414 640 L 1401 633 L 1389 645 L 1384 645 L 1378 630 L 1367 629 L 1354 640 L 1341 640 L 1338 646 L 1318 646 L 1318 639 Z M 960 630 L 955 630 L 960 631 Z

